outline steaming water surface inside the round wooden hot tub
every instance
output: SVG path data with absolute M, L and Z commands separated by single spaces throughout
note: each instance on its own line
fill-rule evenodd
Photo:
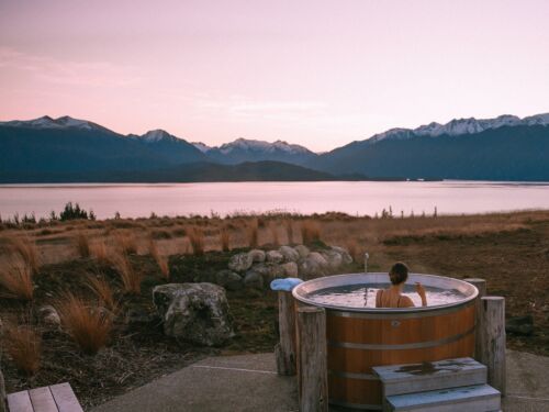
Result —
M 334 288 L 316 290 L 307 294 L 307 299 L 322 304 L 346 308 L 376 308 L 376 294 L 380 289 L 389 288 L 389 283 L 368 283 L 368 285 L 348 285 Z M 446 290 L 425 286 L 427 291 L 427 304 L 435 307 L 458 302 L 466 296 L 457 290 Z M 422 299 L 415 292 L 414 285 L 405 285 L 403 293 L 414 302 L 414 305 L 421 307 Z

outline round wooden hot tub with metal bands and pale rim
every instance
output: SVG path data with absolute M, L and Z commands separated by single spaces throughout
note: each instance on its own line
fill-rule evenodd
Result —
M 320 289 L 357 283 L 386 283 L 386 274 L 351 274 L 309 280 L 293 289 L 305 304 L 326 309 L 329 403 L 381 410 L 381 386 L 373 366 L 434 361 L 472 356 L 478 290 L 462 280 L 411 274 L 407 283 L 458 290 L 455 303 L 407 309 L 346 308 L 307 298 Z

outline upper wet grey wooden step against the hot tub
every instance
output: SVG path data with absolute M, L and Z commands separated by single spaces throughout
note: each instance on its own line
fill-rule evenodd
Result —
M 486 367 L 472 358 L 378 366 L 383 397 L 486 383 Z

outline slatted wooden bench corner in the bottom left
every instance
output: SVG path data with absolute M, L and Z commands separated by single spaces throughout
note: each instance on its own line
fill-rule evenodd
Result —
M 83 412 L 69 383 L 8 394 L 9 412 Z

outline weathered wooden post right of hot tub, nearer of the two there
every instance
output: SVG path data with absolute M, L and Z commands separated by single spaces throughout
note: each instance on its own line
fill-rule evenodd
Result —
M 479 361 L 488 367 L 488 383 L 505 394 L 505 298 L 481 298 Z

